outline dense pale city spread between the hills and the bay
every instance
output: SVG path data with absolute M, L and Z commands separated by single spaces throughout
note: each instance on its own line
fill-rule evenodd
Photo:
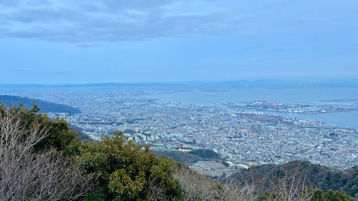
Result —
M 124 131 L 135 143 L 152 150 L 211 149 L 240 171 L 259 164 L 308 160 L 342 170 L 358 163 L 358 133 L 354 128 L 326 125 L 319 119 L 299 119 L 296 113 L 319 114 L 356 110 L 355 107 L 303 105 L 270 100 L 237 103 L 181 104 L 148 99 L 145 95 L 194 90 L 178 88 L 20 88 L 0 89 L 0 95 L 30 97 L 66 104 L 78 114 L 66 117 L 83 134 L 100 140 Z M 290 112 L 266 115 L 263 111 Z

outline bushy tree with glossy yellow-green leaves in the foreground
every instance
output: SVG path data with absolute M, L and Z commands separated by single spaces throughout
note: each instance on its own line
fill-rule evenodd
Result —
M 97 187 L 102 188 L 100 194 L 106 194 L 106 200 L 156 200 L 158 194 L 183 199 L 179 181 L 173 177 L 179 163 L 156 157 L 149 146 L 126 141 L 123 132 L 103 136 L 101 142 L 82 141 L 78 147 L 77 160 L 88 173 L 98 174 Z M 86 200 L 91 200 L 90 196 L 93 194 Z

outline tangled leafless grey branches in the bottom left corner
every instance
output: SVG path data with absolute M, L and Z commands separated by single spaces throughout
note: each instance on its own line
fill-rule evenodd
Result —
M 48 136 L 46 126 L 32 122 L 25 134 L 18 113 L 0 111 L 0 201 L 75 200 L 93 184 L 73 160 L 54 149 L 34 152 Z

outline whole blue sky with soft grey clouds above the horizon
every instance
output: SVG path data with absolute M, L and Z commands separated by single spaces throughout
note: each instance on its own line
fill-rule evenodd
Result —
M 0 83 L 358 78 L 357 0 L 0 0 Z

